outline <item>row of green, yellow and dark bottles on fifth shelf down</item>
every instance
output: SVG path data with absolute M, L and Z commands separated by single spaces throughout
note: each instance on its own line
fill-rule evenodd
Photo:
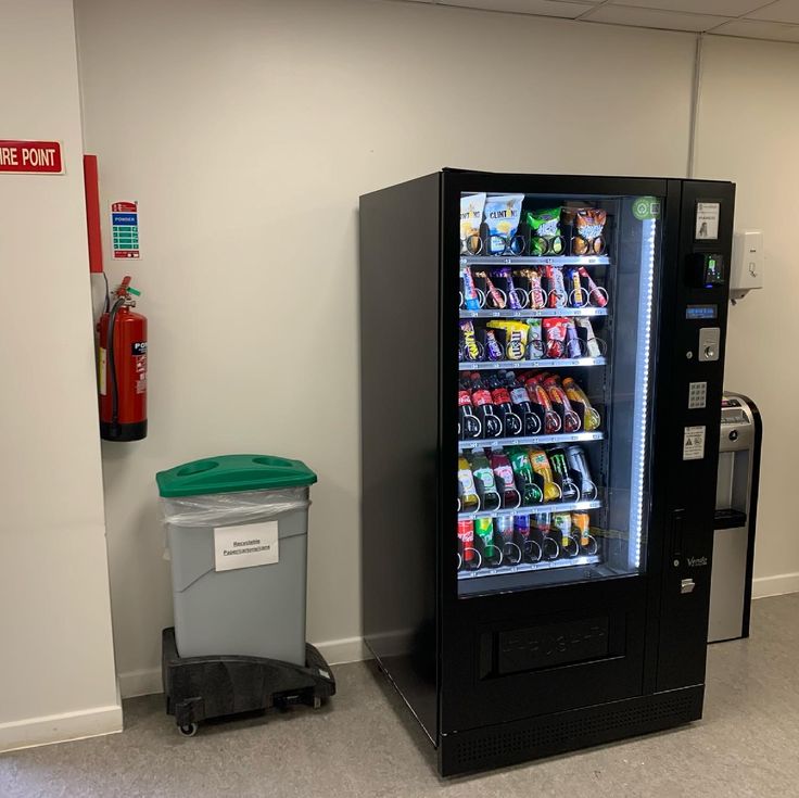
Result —
M 582 446 L 495 446 L 458 458 L 458 512 L 594 501 L 598 489 Z

